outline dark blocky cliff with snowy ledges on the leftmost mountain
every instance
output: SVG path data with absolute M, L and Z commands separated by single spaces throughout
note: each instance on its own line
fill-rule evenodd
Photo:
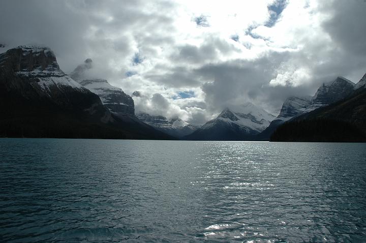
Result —
M 54 53 L 44 46 L 19 46 L 0 54 L 3 85 L 18 88 L 25 98 L 47 98 L 65 108 L 89 109 L 101 105 L 90 93 L 59 69 Z M 82 94 L 84 101 L 78 100 Z M 70 99 L 75 97 L 74 99 Z

